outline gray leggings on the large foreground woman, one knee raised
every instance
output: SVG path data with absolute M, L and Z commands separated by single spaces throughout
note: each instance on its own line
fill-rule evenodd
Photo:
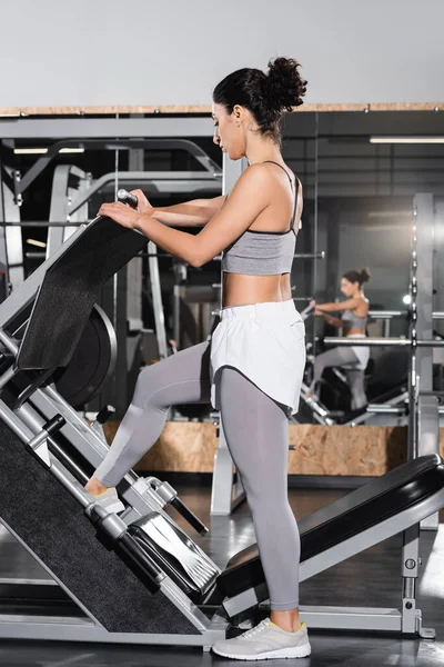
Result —
M 210 402 L 210 344 L 144 368 L 109 454 L 95 471 L 114 487 L 154 445 L 170 406 Z M 287 499 L 289 422 L 283 406 L 231 367 L 219 370 L 221 418 L 253 517 L 273 610 L 299 606 L 297 524 Z

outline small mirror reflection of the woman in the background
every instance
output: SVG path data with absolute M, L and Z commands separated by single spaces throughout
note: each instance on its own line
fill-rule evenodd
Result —
M 329 325 L 344 329 L 349 338 L 365 338 L 365 327 L 369 313 L 369 299 L 364 296 L 363 285 L 370 280 L 369 269 L 347 271 L 341 280 L 341 291 L 346 297 L 341 303 L 316 303 L 314 315 L 324 318 Z M 342 312 L 342 318 L 332 317 L 329 312 Z M 367 347 L 336 347 L 322 355 L 314 361 L 313 381 L 307 397 L 314 395 L 325 368 L 341 366 L 346 370 L 352 394 L 352 410 L 366 406 L 367 397 L 364 389 L 364 371 L 370 358 Z

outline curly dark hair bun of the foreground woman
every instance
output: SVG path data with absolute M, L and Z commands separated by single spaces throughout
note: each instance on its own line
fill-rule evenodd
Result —
M 266 76 L 266 92 L 271 106 L 276 111 L 291 111 L 293 107 L 303 104 L 306 81 L 297 69 L 300 63 L 293 58 L 270 60 Z

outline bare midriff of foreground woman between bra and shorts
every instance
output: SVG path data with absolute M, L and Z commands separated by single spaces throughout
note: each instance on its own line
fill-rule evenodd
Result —
M 292 298 L 290 273 L 280 276 L 222 275 L 222 307 L 249 306 Z

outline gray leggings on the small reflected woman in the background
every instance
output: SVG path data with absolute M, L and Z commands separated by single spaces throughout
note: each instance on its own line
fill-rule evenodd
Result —
M 331 366 L 349 366 L 357 364 L 359 359 L 351 348 L 332 348 L 326 352 L 322 352 L 314 360 L 313 380 L 310 385 L 311 391 L 314 391 L 317 382 L 322 378 L 325 368 Z M 343 369 L 350 385 L 352 394 L 352 410 L 359 410 L 367 404 L 367 397 L 364 389 L 364 371 L 360 368 Z

